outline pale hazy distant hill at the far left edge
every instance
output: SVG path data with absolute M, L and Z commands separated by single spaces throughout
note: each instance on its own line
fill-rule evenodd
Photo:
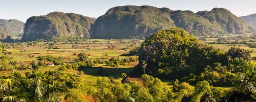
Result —
M 0 19 L 0 26 L 7 28 L 10 33 L 24 33 L 24 24 L 23 22 L 15 19 L 3 20 Z

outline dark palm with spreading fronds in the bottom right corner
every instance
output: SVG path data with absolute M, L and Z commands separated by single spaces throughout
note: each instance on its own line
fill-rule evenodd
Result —
M 234 88 L 227 92 L 223 101 L 252 102 L 256 101 L 256 74 L 254 62 L 241 57 L 233 60 L 236 65 L 238 78 L 234 81 Z

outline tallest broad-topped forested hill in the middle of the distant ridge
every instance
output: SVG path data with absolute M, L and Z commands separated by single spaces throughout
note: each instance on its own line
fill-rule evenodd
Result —
M 153 6 L 118 6 L 97 18 L 93 38 L 120 39 L 132 36 L 148 37 L 160 29 L 175 27 L 172 10 Z

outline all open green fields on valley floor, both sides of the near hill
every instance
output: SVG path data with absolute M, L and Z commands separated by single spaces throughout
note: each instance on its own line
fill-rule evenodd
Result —
M 12 54 L 3 54 L 0 53 L 0 56 L 12 57 L 12 61 L 22 62 L 26 66 L 30 65 L 33 60 L 37 60 L 40 56 L 51 55 L 53 57 L 62 57 L 65 59 L 65 63 L 69 63 L 70 61 L 74 61 L 78 58 L 79 53 L 85 53 L 88 56 L 88 60 L 93 61 L 94 59 L 100 59 L 103 61 L 108 61 L 110 58 L 119 58 L 124 59 L 126 56 L 121 56 L 122 54 L 128 54 L 130 50 L 135 47 L 139 47 L 142 40 L 103 40 L 103 39 L 91 39 L 86 42 L 81 42 L 78 44 L 63 44 L 64 42 L 57 42 L 52 45 L 53 48 L 57 49 L 49 49 L 51 45 L 47 45 L 47 42 L 38 42 L 35 45 L 17 45 L 14 48 L 5 48 L 7 52 L 12 52 Z M 53 43 L 53 42 L 51 42 Z M 249 48 L 244 44 L 210 44 L 213 47 L 228 51 L 231 46 L 237 46 L 240 48 L 250 50 L 251 56 L 256 57 L 256 48 Z M 115 47 L 109 47 L 115 46 Z M 0 71 L 0 76 L 9 77 L 13 74 L 12 65 L 7 64 L 7 70 Z M 122 77 L 122 73 L 126 73 L 128 77 L 130 77 L 131 81 L 138 81 L 143 86 L 140 79 L 140 75 L 134 75 L 132 71 L 134 71 L 135 66 L 138 64 L 136 62 L 126 63 L 126 65 L 119 65 L 118 67 L 110 67 L 106 66 L 106 64 L 95 63 L 93 66 L 79 69 L 78 71 L 74 69 L 67 69 L 62 71 L 62 73 L 76 74 L 77 77 L 81 78 L 80 83 L 82 84 L 82 89 L 74 89 L 83 93 L 84 90 L 88 91 L 91 86 L 94 86 L 99 78 L 109 78 L 113 77 L 115 81 L 120 82 Z M 19 65 L 19 64 L 18 64 Z M 55 66 L 40 66 L 38 71 L 46 72 L 46 71 L 58 71 L 62 65 Z M 102 68 L 101 73 L 99 73 L 99 69 Z M 31 69 L 23 69 L 16 71 L 20 72 L 23 75 L 30 73 Z M 170 90 L 173 90 L 173 82 L 174 80 L 170 79 L 161 79 L 162 85 Z M 218 88 L 218 87 L 216 87 Z M 230 88 L 224 88 L 230 89 Z M 73 89 L 72 89 L 73 90 Z M 86 93 L 86 92 L 85 92 Z

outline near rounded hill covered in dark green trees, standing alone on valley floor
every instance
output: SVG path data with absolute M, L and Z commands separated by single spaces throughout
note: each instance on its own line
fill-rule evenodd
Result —
M 155 77 L 178 79 L 197 75 L 214 62 L 225 63 L 225 54 L 194 38 L 182 28 L 157 31 L 147 38 L 139 50 L 136 72 Z

